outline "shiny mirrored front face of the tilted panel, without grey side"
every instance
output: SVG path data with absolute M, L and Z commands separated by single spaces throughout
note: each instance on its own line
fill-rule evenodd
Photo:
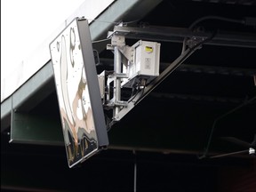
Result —
M 61 124 L 71 167 L 98 149 L 83 52 L 72 21 L 50 44 Z

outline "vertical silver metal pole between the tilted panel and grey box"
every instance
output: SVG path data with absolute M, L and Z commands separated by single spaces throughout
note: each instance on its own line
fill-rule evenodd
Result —
M 115 74 L 116 74 L 116 79 L 115 79 L 115 83 L 114 83 L 115 84 L 114 94 L 115 94 L 116 100 L 119 101 L 119 100 L 121 100 L 121 79 L 120 79 L 120 77 L 118 77 L 118 74 L 121 74 L 122 54 L 118 50 L 117 46 L 115 46 L 114 54 L 115 54 L 114 55 L 114 71 L 115 71 Z M 119 111 L 120 111 L 120 107 L 115 106 L 114 111 L 113 111 L 114 118 L 119 113 Z

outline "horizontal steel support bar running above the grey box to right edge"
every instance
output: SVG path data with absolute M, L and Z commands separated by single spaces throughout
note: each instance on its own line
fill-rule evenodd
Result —
M 212 33 L 193 32 L 188 28 L 134 28 L 115 26 L 112 34 L 123 35 L 125 38 L 147 39 L 151 41 L 176 42 L 182 43 L 184 38 L 193 37 L 194 39 L 204 40 L 212 36 Z M 228 33 L 218 31 L 212 40 L 205 43 L 222 46 L 236 46 L 256 48 L 256 35 L 252 33 Z

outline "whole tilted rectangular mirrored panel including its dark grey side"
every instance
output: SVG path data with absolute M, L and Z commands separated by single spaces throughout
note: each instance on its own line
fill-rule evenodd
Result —
M 69 167 L 108 145 L 87 20 L 76 18 L 50 44 Z

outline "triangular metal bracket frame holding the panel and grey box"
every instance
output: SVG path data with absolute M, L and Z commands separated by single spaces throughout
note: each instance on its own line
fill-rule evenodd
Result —
M 184 50 L 180 54 L 180 56 L 174 60 L 167 68 L 164 69 L 164 71 L 157 76 L 155 79 L 152 80 L 150 84 L 145 86 L 143 90 L 140 90 L 138 94 L 136 94 L 134 97 L 132 97 L 132 100 L 129 100 L 127 104 L 124 107 L 120 107 L 116 105 L 114 102 L 114 110 L 113 110 L 113 117 L 112 121 L 108 124 L 108 127 L 111 127 L 113 124 L 115 124 L 117 121 L 120 121 L 132 108 L 134 108 L 141 100 L 143 100 L 149 92 L 153 91 L 158 84 L 160 84 L 164 79 L 169 76 L 176 68 L 180 67 L 180 64 L 182 64 L 188 57 L 193 53 L 196 52 L 198 48 L 201 47 L 202 44 L 212 41 L 212 35 L 209 34 L 195 34 L 189 32 L 189 30 L 182 29 L 183 33 L 178 33 L 177 31 L 175 33 L 169 34 L 169 30 L 159 30 L 159 29 L 152 29 L 152 28 L 128 28 L 123 26 L 116 26 L 114 28 L 113 32 L 108 32 L 108 38 L 112 39 L 112 45 L 110 47 L 114 47 L 114 76 L 121 73 L 121 63 L 122 63 L 122 55 L 119 51 L 122 50 L 124 47 L 124 38 L 130 38 L 131 35 L 133 37 L 142 37 L 146 36 L 146 39 L 154 39 L 159 41 L 170 41 L 170 38 L 174 35 L 176 37 L 182 37 L 183 39 L 186 37 L 192 37 L 192 45 L 188 47 L 187 50 Z M 135 36 L 134 36 L 135 35 Z M 158 38 L 156 38 L 158 36 Z M 160 37 L 161 36 L 161 37 Z M 195 37 L 196 36 L 196 37 Z M 119 37 L 119 38 L 118 38 Z M 165 38 L 164 38 L 165 37 Z M 143 38 L 143 37 L 142 37 Z M 120 39 L 120 42 L 116 39 Z M 255 42 L 256 43 L 256 42 Z M 256 45 L 256 44 L 255 44 Z M 109 45 L 108 45 L 109 47 Z M 120 94 L 121 94 L 121 84 L 120 84 L 120 78 L 116 76 L 115 78 L 115 84 L 114 84 L 114 98 L 116 101 L 120 100 Z

